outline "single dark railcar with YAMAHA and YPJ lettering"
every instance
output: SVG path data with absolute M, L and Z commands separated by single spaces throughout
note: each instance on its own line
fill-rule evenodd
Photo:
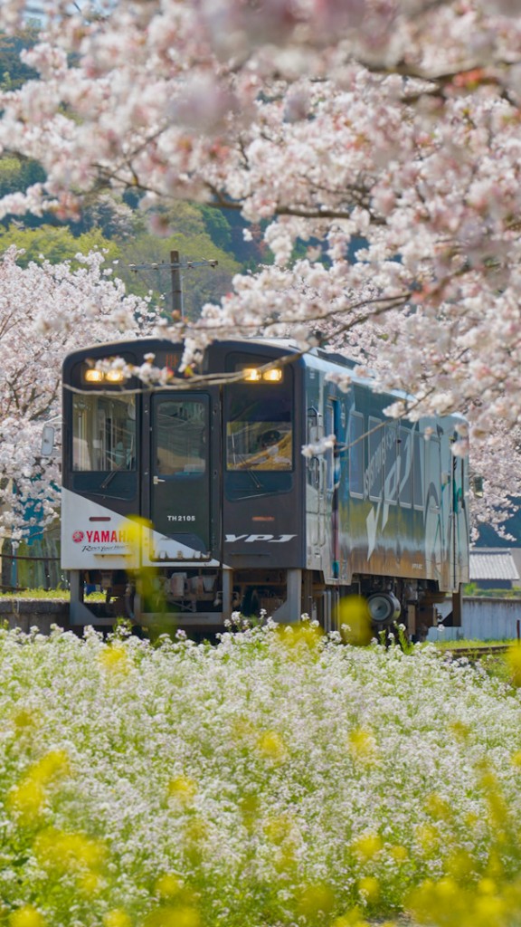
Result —
M 450 596 L 458 623 L 469 564 L 468 464 L 451 451 L 461 417 L 388 417 L 402 394 L 291 338 L 215 341 L 189 372 L 183 351 L 143 338 L 65 359 L 71 625 L 126 616 L 205 634 L 238 613 L 307 615 L 329 631 L 349 595 L 375 629 L 402 622 L 420 638 Z M 115 358 L 169 375 L 146 387 Z M 102 601 L 85 596 L 91 587 Z

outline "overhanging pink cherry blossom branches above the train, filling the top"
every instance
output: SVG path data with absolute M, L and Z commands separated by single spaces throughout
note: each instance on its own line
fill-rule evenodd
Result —
M 273 266 L 172 337 L 192 352 L 229 332 L 373 343 L 411 413 L 467 414 L 456 451 L 489 441 L 489 498 L 517 493 L 519 0 L 44 6 L 24 57 L 40 80 L 1 95 L 0 146 L 47 180 L 0 214 L 70 216 L 125 186 L 144 207 L 242 210 Z M 0 25 L 27 9 L 8 0 Z

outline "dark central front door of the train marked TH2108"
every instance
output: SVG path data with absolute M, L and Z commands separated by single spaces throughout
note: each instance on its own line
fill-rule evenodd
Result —
M 151 560 L 208 560 L 215 548 L 218 486 L 211 463 L 217 458 L 211 444 L 219 428 L 211 419 L 219 406 L 212 392 L 150 397 Z

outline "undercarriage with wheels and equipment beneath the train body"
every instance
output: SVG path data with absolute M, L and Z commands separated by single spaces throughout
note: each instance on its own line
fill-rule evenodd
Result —
M 160 624 L 188 633 L 222 630 L 234 615 L 281 624 L 302 616 L 317 620 L 324 630 L 340 630 L 340 603 L 356 596 L 367 603 L 371 631 L 378 634 L 403 624 L 413 639 L 425 638 L 437 624 L 437 604 L 447 600 L 432 580 L 359 576 L 350 585 L 332 585 L 316 570 L 219 569 L 159 567 L 127 573 L 123 570 L 70 571 L 71 624 L 111 626 L 117 618 L 136 626 Z M 89 590 L 103 593 L 95 600 Z M 452 621 L 457 624 L 459 594 L 452 595 Z

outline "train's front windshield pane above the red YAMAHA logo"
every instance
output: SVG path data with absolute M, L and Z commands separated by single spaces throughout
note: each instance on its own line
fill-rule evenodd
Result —
M 72 469 L 98 473 L 135 470 L 133 396 L 73 396 Z

